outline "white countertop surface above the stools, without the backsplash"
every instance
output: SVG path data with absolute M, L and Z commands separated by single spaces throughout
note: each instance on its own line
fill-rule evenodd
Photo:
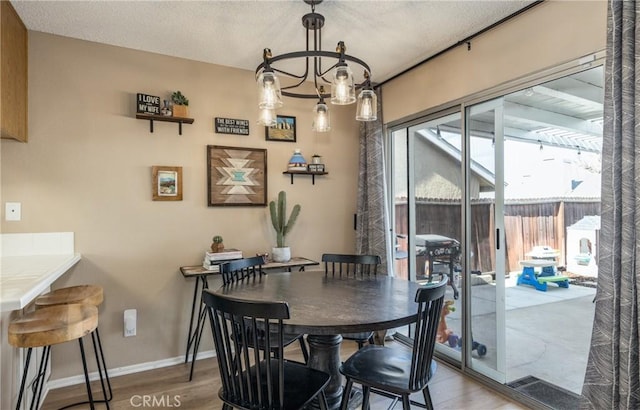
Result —
M 79 253 L 0 258 L 0 312 L 22 309 L 80 261 Z

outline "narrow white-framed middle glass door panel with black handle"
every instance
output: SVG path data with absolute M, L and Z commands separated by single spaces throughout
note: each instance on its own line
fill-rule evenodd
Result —
M 505 382 L 503 99 L 465 110 L 468 366 Z

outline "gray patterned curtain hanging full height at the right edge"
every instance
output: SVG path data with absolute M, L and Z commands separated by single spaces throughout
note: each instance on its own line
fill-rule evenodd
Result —
M 588 407 L 595 409 L 640 408 L 636 267 L 639 11 L 635 1 L 608 2 L 598 290 L 582 390 Z

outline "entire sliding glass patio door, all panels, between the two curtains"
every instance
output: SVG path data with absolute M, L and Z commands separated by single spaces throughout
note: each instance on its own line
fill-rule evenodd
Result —
M 449 282 L 437 355 L 551 407 L 589 351 L 602 101 L 595 66 L 391 127 L 394 273 Z

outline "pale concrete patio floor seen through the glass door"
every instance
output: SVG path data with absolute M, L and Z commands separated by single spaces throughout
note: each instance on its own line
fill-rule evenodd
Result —
M 513 275 L 512 275 L 513 276 Z M 473 357 L 495 368 L 495 286 L 472 286 L 472 316 L 474 340 L 487 347 L 487 354 Z M 516 286 L 507 281 L 506 364 L 507 381 L 533 375 L 580 394 L 595 304 L 594 288 L 570 285 L 559 288 L 550 285 L 546 292 L 532 286 Z M 453 300 L 447 290 L 445 299 Z M 448 328 L 460 335 L 460 300 L 456 311 L 446 317 Z

